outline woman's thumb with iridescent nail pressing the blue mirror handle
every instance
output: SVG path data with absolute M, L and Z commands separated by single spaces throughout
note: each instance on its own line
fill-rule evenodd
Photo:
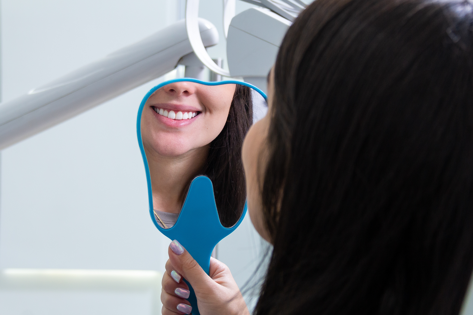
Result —
M 189 281 L 196 294 L 212 286 L 212 279 L 176 239 L 169 244 L 168 254 L 175 271 Z

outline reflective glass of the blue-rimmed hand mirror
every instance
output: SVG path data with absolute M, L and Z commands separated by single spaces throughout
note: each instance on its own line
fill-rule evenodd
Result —
M 165 229 L 177 221 L 190 183 L 199 175 L 212 182 L 224 227 L 232 227 L 243 213 L 241 147 L 254 120 L 265 114 L 266 102 L 256 89 L 236 81 L 208 84 L 165 84 L 151 90 L 142 107 L 139 121 L 153 212 Z

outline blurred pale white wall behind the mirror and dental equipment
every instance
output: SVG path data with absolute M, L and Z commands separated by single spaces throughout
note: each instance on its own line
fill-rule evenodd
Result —
M 201 0 L 199 14 L 219 29 L 220 43 L 209 53 L 227 67 L 222 2 Z M 8 101 L 175 23 L 184 17 L 185 1 L 0 3 L 1 97 Z M 237 1 L 236 12 L 249 7 Z M 1 151 L 0 270 L 157 271 L 149 281 L 160 281 L 170 240 L 149 218 L 135 124 L 146 92 L 175 76 L 169 73 Z M 260 244 L 248 217 L 219 244 L 218 258 L 240 286 L 259 263 Z M 151 314 L 159 293 L 149 283 L 141 289 L 0 285 L 0 314 Z

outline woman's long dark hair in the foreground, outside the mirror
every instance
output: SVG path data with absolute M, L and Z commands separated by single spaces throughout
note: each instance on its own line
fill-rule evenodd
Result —
M 289 27 L 255 314 L 459 313 L 473 267 L 472 12 L 315 0 Z

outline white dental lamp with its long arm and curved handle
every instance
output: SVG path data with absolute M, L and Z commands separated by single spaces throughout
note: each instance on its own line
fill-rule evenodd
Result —
M 259 8 L 235 16 L 235 0 L 223 1 L 229 70 L 206 51 L 219 42 L 216 27 L 198 17 L 199 0 L 187 0 L 185 20 L 0 103 L 0 150 L 158 78 L 178 64 L 186 66 L 186 77 L 201 79 L 207 67 L 216 75 L 242 78 L 266 92 L 266 75 L 282 38 L 306 4 L 300 0 L 243 0 Z

